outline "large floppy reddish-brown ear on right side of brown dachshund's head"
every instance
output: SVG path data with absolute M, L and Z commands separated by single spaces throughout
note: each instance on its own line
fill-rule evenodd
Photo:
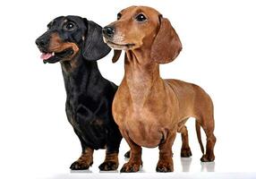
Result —
M 159 17 L 160 29 L 151 47 L 151 58 L 158 64 L 166 64 L 175 60 L 182 50 L 180 38 L 170 21 Z

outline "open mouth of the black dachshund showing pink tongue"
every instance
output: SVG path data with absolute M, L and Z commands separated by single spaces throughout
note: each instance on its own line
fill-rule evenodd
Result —
M 61 52 L 42 52 L 41 59 L 43 60 L 44 64 L 53 64 L 56 62 L 61 61 L 63 58 L 69 57 L 73 55 L 73 48 L 69 47 L 64 49 Z

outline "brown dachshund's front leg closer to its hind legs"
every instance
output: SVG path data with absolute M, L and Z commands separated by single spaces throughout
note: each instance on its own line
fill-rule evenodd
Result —
M 169 132 L 166 136 L 166 141 L 159 144 L 159 160 L 157 165 L 157 172 L 173 172 L 173 152 L 172 146 L 175 141 L 176 132 Z

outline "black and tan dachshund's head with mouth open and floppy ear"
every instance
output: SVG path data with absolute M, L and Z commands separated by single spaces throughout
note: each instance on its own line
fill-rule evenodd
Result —
M 94 61 L 110 52 L 101 30 L 94 21 L 79 16 L 60 16 L 48 23 L 47 31 L 37 38 L 36 44 L 45 64 L 71 61 L 77 55 Z

